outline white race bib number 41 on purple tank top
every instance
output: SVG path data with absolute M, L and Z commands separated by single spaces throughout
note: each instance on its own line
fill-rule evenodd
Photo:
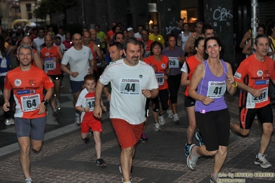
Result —
M 207 97 L 209 98 L 221 98 L 225 94 L 226 82 L 224 81 L 209 81 Z

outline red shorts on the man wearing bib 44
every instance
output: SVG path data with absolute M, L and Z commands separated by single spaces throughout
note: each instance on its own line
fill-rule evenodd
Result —
M 114 127 L 114 131 L 116 131 L 121 149 L 133 147 L 136 142 L 139 142 L 144 122 L 139 125 L 131 125 L 129 122 L 119 118 L 111 118 L 110 120 Z

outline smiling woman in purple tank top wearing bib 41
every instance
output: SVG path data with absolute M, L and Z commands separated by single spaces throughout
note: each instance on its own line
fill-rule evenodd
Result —
M 205 39 L 205 61 L 200 63 L 192 76 L 189 95 L 196 100 L 196 124 L 203 137 L 201 147 L 192 144 L 187 166 L 194 170 L 201 155 L 214 155 L 214 169 L 210 182 L 216 182 L 225 162 L 230 136 L 230 113 L 225 103 L 225 91 L 236 92 L 237 83 L 230 63 L 220 60 L 223 47 L 216 37 Z

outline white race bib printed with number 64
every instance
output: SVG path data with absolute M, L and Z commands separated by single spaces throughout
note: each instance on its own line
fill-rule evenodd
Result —
M 33 96 L 21 96 L 22 111 L 34 111 L 37 109 L 37 106 L 40 104 L 40 95 Z

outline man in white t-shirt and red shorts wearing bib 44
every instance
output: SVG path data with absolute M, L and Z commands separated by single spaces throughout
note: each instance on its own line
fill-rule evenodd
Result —
M 110 63 L 96 84 L 94 116 L 101 118 L 101 93 L 110 82 L 110 120 L 122 149 L 119 169 L 123 175 L 122 181 L 129 183 L 135 146 L 141 138 L 145 121 L 146 98 L 155 98 L 159 94 L 159 86 L 152 67 L 139 60 L 139 41 L 127 39 L 123 54 L 126 58 Z

